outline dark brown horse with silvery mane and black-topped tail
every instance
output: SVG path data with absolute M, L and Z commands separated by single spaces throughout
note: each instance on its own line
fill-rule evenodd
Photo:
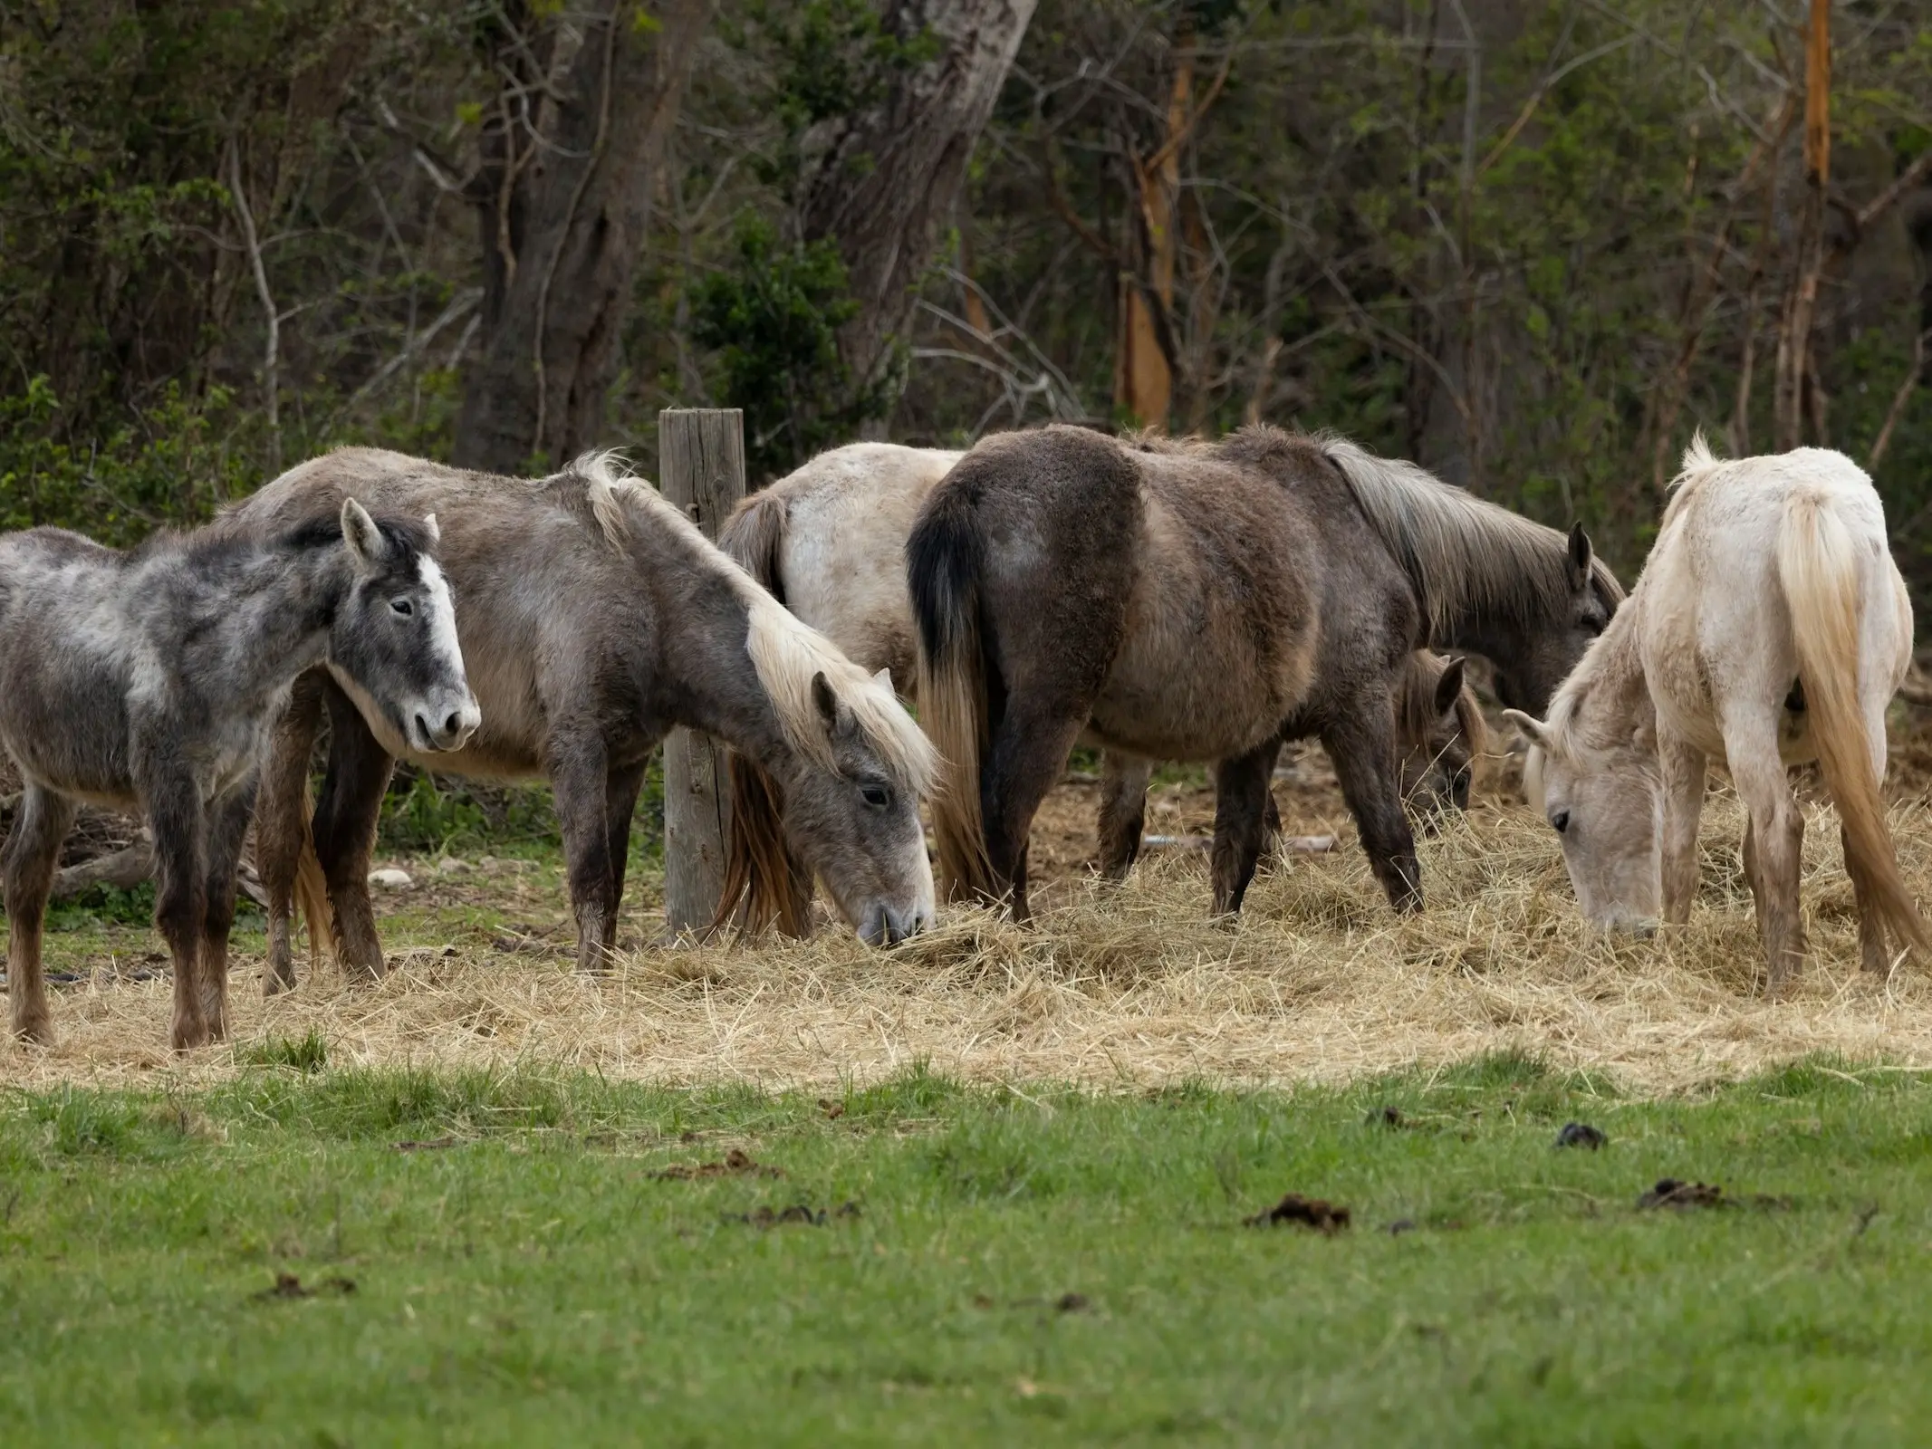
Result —
M 1211 759 L 1215 910 L 1238 908 L 1283 740 L 1318 736 L 1383 891 L 1422 904 L 1391 697 L 1459 630 L 1530 643 L 1520 680 L 1621 597 L 1555 529 L 1333 437 L 1208 444 L 1078 429 L 993 437 L 906 541 L 920 713 L 952 775 L 935 802 L 951 889 L 1026 914 L 1026 831 L 1090 721 L 1138 759 Z M 1499 645 L 1493 645 L 1499 647 Z M 1130 800 L 1130 804 L 1126 804 Z M 1138 846 L 1140 792 L 1103 833 Z M 1126 819 L 1121 819 L 1126 815 Z

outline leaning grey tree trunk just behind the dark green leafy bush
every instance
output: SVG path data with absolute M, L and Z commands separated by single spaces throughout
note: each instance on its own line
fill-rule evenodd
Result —
M 811 137 L 815 160 L 798 193 L 806 242 L 833 238 L 858 313 L 838 328 L 852 377 L 866 384 L 898 365 L 920 276 L 1036 0 L 893 0 L 885 29 L 929 35 L 937 54 L 902 71 L 885 99 Z

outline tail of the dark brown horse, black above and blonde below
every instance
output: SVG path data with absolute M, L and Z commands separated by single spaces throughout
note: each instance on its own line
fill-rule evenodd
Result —
M 939 750 L 933 844 L 949 898 L 991 896 L 993 866 L 980 810 L 980 761 L 987 750 L 985 649 L 980 580 L 985 539 L 972 497 L 933 491 L 906 537 L 906 583 L 920 634 L 920 724 Z

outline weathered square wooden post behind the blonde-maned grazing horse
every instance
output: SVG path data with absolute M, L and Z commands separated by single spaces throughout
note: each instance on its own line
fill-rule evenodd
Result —
M 657 415 L 657 483 L 707 539 L 744 497 L 744 413 L 667 408 Z M 672 935 L 717 916 L 730 792 L 724 750 L 694 730 L 665 740 L 665 923 Z

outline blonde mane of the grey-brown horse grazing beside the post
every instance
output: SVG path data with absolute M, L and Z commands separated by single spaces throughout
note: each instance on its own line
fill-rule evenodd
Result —
M 699 560 L 730 580 L 750 616 L 746 649 L 752 668 L 771 697 L 786 742 L 798 753 L 821 769 L 838 769 L 831 736 L 811 697 L 811 680 L 823 674 L 896 782 L 927 794 L 937 755 L 889 684 L 854 665 L 838 645 L 786 611 L 647 479 L 628 471 L 614 450 L 587 452 L 564 475 L 583 481 L 591 514 L 612 547 L 628 547 L 634 526 L 655 527 L 684 541 Z

